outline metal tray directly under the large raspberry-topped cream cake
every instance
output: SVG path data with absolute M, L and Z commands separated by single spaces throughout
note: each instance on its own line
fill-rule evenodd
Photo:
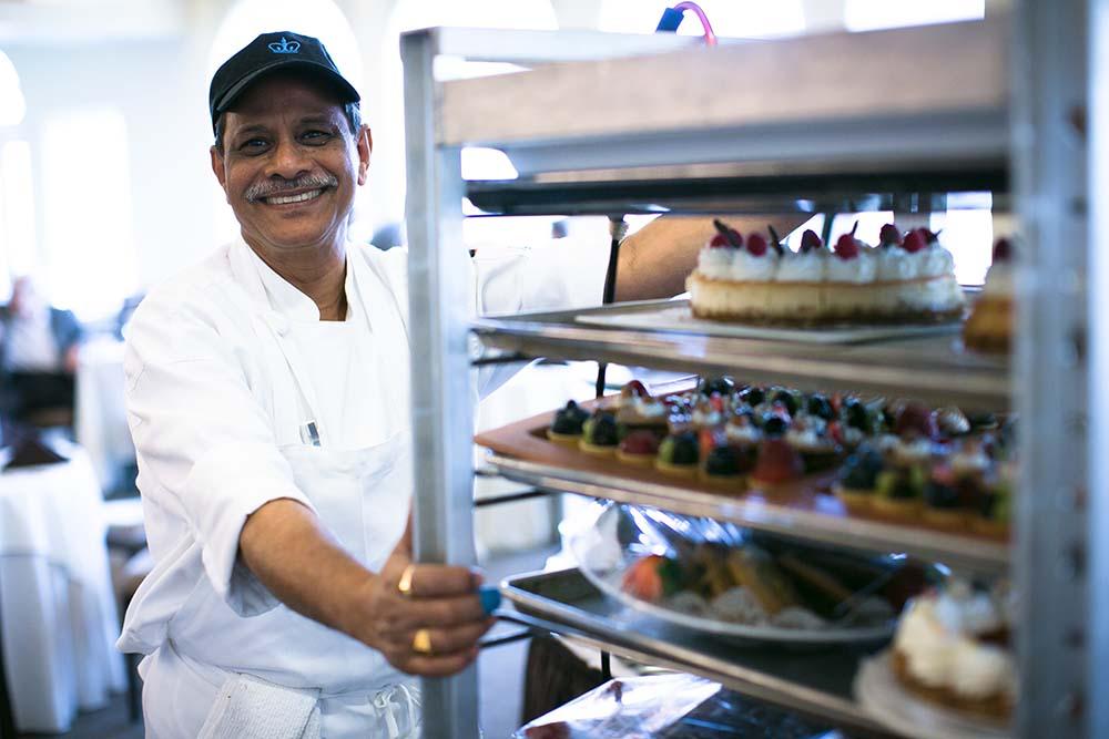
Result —
M 962 350 L 954 335 L 857 345 L 701 336 L 673 330 L 627 330 L 583 324 L 581 316 L 654 311 L 680 301 L 618 304 L 590 310 L 481 318 L 472 329 L 491 349 L 528 357 L 599 360 L 806 391 L 910 397 L 934 406 L 990 412 L 1009 407 L 1006 358 Z

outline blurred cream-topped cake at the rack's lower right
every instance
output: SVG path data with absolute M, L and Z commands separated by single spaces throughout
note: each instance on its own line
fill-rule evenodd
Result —
M 922 595 L 902 614 L 893 669 L 910 692 L 947 708 L 1004 720 L 1016 699 L 1008 618 L 997 594 L 962 581 Z

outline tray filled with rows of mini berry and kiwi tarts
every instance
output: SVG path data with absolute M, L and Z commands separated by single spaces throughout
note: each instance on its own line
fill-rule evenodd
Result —
M 1004 542 L 1015 419 L 919 402 L 703 378 L 652 394 L 637 380 L 479 434 L 516 459 L 628 484 Z

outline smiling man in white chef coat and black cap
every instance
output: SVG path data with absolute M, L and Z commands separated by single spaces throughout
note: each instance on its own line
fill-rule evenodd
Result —
M 469 665 L 480 577 L 410 560 L 403 249 L 347 240 L 372 138 L 324 47 L 266 33 L 210 93 L 212 170 L 242 238 L 152 290 L 126 401 L 155 561 L 120 648 L 149 737 L 418 736 L 417 676 Z M 628 239 L 619 297 L 674 294 L 711 226 Z M 566 304 L 537 249 L 478 268 L 471 309 Z M 601 270 L 591 270 L 601 271 Z

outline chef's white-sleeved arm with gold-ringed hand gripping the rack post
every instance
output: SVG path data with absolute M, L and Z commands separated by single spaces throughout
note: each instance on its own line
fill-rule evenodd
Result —
M 213 589 L 244 617 L 284 601 L 401 670 L 444 675 L 465 666 L 489 627 L 475 575 L 418 565 L 405 598 L 397 585 L 411 562 L 407 537 L 379 573 L 348 555 L 297 487 L 233 343 L 197 307 L 181 304 L 177 294 L 152 296 L 135 314 L 124 361 L 128 414 L 150 483 L 143 494 L 180 509 Z M 419 628 L 430 633 L 431 656 L 414 650 Z

